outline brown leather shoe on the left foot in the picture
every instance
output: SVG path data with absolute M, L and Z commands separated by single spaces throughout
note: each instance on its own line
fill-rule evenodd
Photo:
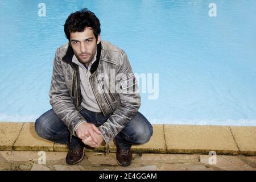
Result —
M 69 165 L 79 163 L 84 158 L 84 147 L 69 149 L 66 156 L 66 163 Z

